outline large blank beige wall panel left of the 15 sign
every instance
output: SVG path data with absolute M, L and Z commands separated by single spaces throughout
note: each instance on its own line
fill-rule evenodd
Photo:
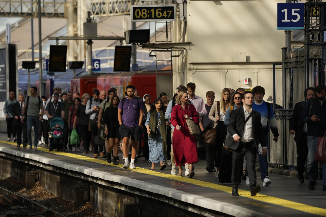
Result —
M 276 30 L 276 4 L 281 0 L 189 1 L 188 62 L 281 61 L 284 31 Z

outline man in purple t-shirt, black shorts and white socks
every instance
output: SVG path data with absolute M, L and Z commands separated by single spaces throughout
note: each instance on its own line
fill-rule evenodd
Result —
M 123 154 L 125 157 L 124 169 L 129 169 L 128 144 L 131 137 L 131 161 L 130 169 L 136 169 L 135 158 L 138 152 L 138 140 L 141 134 L 141 121 L 143 118 L 143 103 L 140 102 L 134 93 L 135 86 L 126 87 L 128 97 L 120 101 L 118 105 L 119 132 L 123 141 Z

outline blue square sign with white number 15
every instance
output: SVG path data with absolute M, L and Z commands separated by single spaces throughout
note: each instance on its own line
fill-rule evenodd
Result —
M 277 30 L 304 29 L 304 3 L 277 3 Z

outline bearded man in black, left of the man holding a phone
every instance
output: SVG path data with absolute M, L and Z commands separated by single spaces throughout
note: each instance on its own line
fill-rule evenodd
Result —
M 307 88 L 304 90 L 304 98 L 306 101 L 315 99 L 315 88 Z M 307 160 L 308 146 L 307 146 L 307 130 L 308 125 L 301 120 L 301 113 L 306 101 L 298 102 L 295 104 L 293 114 L 290 118 L 290 134 L 295 135 L 294 141 L 297 144 L 297 171 L 300 183 L 304 183 L 304 164 Z

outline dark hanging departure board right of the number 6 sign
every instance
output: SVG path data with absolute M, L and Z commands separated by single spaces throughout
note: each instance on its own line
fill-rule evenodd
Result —
M 113 72 L 130 72 L 131 46 L 115 46 Z

